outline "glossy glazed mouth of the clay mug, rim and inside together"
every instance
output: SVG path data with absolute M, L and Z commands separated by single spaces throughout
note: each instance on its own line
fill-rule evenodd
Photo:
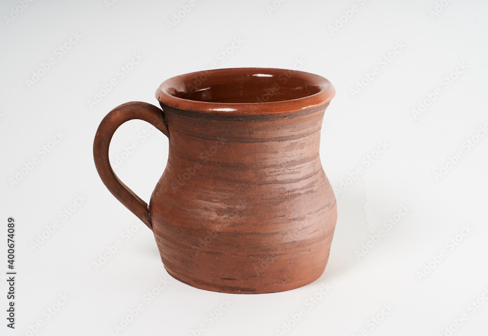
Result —
M 271 112 L 285 107 L 301 109 L 327 103 L 334 95 L 334 87 L 324 77 L 275 68 L 193 72 L 164 81 L 156 91 L 162 106 L 220 112 L 263 103 Z

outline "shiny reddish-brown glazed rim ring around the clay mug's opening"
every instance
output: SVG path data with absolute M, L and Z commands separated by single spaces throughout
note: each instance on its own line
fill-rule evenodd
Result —
M 237 73 L 237 74 L 236 74 Z M 317 86 L 320 91 L 309 96 L 276 101 L 276 102 L 255 102 L 255 103 L 215 103 L 204 102 L 176 97 L 171 92 L 176 92 L 178 87 L 189 85 L 189 81 L 195 81 L 197 76 L 212 75 L 259 75 L 259 74 L 291 74 L 295 78 L 305 80 L 307 83 Z M 266 114 L 290 112 L 328 104 L 335 96 L 335 88 L 325 77 L 300 71 L 281 68 L 267 67 L 242 67 L 242 68 L 222 68 L 190 72 L 183 75 L 171 77 L 165 80 L 156 90 L 156 99 L 161 105 L 173 107 L 180 110 L 208 112 L 208 113 L 246 113 L 246 114 Z

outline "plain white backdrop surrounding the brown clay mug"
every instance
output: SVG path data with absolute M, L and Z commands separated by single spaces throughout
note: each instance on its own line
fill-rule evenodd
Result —
M 15 331 L 6 327 L 8 286 L 0 279 L 1 335 L 117 335 L 114 325 L 138 304 L 143 310 L 119 335 L 198 335 L 199 325 L 201 335 L 352 336 L 363 329 L 377 336 L 449 335 L 446 328 L 456 329 L 451 324 L 461 316 L 467 320 L 453 335 L 486 333 L 488 301 L 478 299 L 478 308 L 470 302 L 488 288 L 488 136 L 480 130 L 488 124 L 488 2 L 443 0 L 447 6 L 429 14 L 434 0 L 275 1 L 278 8 L 269 7 L 272 0 L 196 0 L 171 29 L 167 21 L 189 1 L 120 0 L 107 8 L 103 0 L 38 0 L 23 10 L 20 2 L 0 5 L 0 274 L 7 272 L 8 216 L 16 220 L 18 272 Z M 353 5 L 356 11 L 349 11 Z M 76 33 L 81 37 L 70 45 Z M 241 42 L 232 47 L 234 39 Z M 65 43 L 70 49 L 60 53 Z M 395 53 L 397 43 L 404 47 Z M 121 78 L 118 69 L 134 53 L 142 60 Z M 29 85 L 49 58 L 54 65 Z M 336 192 L 328 265 L 311 285 L 231 295 L 176 281 L 163 268 L 152 232 L 137 226 L 97 175 L 93 137 L 110 109 L 128 101 L 157 105 L 154 92 L 165 79 L 211 66 L 300 68 L 337 89 L 320 154 L 332 186 L 348 185 Z M 367 83 L 365 73 L 375 67 Z M 113 78 L 117 85 L 90 107 Z M 366 85 L 353 93 L 358 81 Z M 412 109 L 436 88 L 440 94 L 414 116 Z M 116 172 L 146 201 L 168 150 L 158 131 L 144 141 L 148 130 L 144 122 L 127 123 L 111 146 L 115 163 L 137 142 Z M 62 140 L 50 143 L 56 132 Z M 468 139 L 477 141 L 474 147 Z M 378 157 L 380 142 L 387 147 Z M 47 153 L 43 146 L 52 148 Z M 456 164 L 446 164 L 457 152 Z M 367 155 L 377 158 L 371 163 Z M 33 158 L 38 164 L 16 181 Z M 436 179 L 441 165 L 449 169 Z M 348 179 L 358 167 L 364 172 Z M 79 207 L 71 205 L 77 195 L 85 198 Z M 76 210 L 67 216 L 70 205 Z M 387 227 L 402 205 L 410 210 Z M 56 220 L 59 227 L 48 232 Z M 122 234 L 131 227 L 127 240 Z M 373 244 L 370 235 L 378 230 L 383 236 Z M 48 238 L 33 247 L 43 233 Z M 450 239 L 459 242 L 446 245 Z M 93 262 L 117 241 L 122 247 L 95 270 Z M 374 246 L 366 251 L 362 244 Z M 364 255 L 357 254 L 362 247 Z M 144 294 L 160 279 L 169 280 L 167 287 L 147 302 Z M 323 284 L 330 286 L 325 295 Z M 69 299 L 58 307 L 60 295 Z M 312 306 L 306 300 L 314 295 L 320 299 Z M 223 299 L 229 307 L 209 317 L 220 313 Z M 48 308 L 60 309 L 51 315 Z M 288 322 L 301 309 L 306 314 Z M 375 324 L 374 316 L 382 321 Z

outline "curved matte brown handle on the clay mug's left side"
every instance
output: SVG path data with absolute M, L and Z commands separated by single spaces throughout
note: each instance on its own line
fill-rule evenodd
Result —
M 159 129 L 169 139 L 164 112 L 161 108 L 143 102 L 129 102 L 117 106 L 103 118 L 95 134 L 93 142 L 93 158 L 95 167 L 103 184 L 127 209 L 131 210 L 142 222 L 152 230 L 149 206 L 134 191 L 129 189 L 117 177 L 108 158 L 110 141 L 123 123 L 133 119 L 148 122 Z

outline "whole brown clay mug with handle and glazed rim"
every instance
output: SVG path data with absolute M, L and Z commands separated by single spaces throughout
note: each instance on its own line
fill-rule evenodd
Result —
M 156 91 L 162 109 L 126 103 L 95 136 L 107 188 L 153 232 L 164 267 L 193 287 L 273 293 L 325 269 L 337 219 L 319 146 L 335 90 L 325 78 L 272 68 L 177 76 Z M 149 206 L 114 174 L 115 130 L 145 120 L 169 138 Z

